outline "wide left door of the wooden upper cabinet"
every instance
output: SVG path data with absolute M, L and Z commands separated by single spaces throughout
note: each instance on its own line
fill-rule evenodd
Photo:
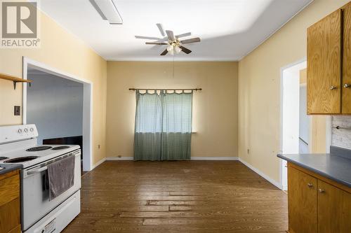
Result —
M 341 9 L 307 29 L 307 114 L 341 112 Z

